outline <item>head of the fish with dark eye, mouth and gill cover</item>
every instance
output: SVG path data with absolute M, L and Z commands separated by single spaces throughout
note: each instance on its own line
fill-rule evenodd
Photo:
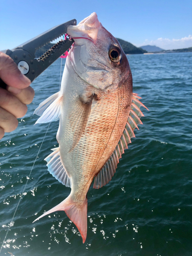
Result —
M 126 82 L 131 75 L 127 57 L 95 12 L 77 26 L 70 25 L 68 34 L 74 39 L 68 61 L 82 80 L 99 90 L 115 90 Z

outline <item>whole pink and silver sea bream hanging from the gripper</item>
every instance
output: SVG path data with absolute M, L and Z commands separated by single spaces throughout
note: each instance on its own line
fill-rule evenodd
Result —
M 45 158 L 50 174 L 70 195 L 36 220 L 63 210 L 87 238 L 87 193 L 108 184 L 146 108 L 133 93 L 129 61 L 118 40 L 94 12 L 68 27 L 74 44 L 67 54 L 61 89 L 39 104 L 36 123 L 59 120 L 59 146 Z M 146 108 L 147 109 L 147 108 Z M 35 220 L 35 221 L 36 221 Z

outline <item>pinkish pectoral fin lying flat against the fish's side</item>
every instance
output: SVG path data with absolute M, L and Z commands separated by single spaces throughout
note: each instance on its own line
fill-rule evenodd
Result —
M 70 152 L 74 150 L 75 146 L 79 142 L 89 119 L 91 112 L 91 106 L 94 95 L 91 95 L 85 102 L 82 98 L 79 98 L 75 102 L 75 108 L 73 113 L 70 115 L 70 125 L 73 130 L 73 144 Z

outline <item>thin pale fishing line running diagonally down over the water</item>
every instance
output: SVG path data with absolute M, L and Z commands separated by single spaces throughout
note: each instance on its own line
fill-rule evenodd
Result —
M 61 69 L 62 69 L 62 58 L 61 58 L 61 68 L 60 68 L 59 90 L 60 90 L 60 86 L 61 86 Z M 32 166 L 32 168 L 31 168 L 31 171 L 30 171 L 30 173 L 29 173 L 29 176 L 27 177 L 27 181 L 26 181 L 26 184 L 25 184 L 25 186 L 24 186 L 22 195 L 20 196 L 20 199 L 19 199 L 18 204 L 17 204 L 17 206 L 16 206 L 16 209 L 15 209 L 15 211 L 14 211 L 13 217 L 12 217 L 11 222 L 10 222 L 10 224 L 9 224 L 9 228 L 8 228 L 8 230 L 7 230 L 7 233 L 6 233 L 6 235 L 5 235 L 4 241 L 3 241 L 3 243 L 2 243 L 2 246 L 1 246 L 1 249 L 0 249 L 0 253 L 1 253 L 2 248 L 3 248 L 3 246 L 4 246 L 4 243 L 5 243 L 5 240 L 6 240 L 6 238 L 7 238 L 7 235 L 8 235 L 8 232 L 9 232 L 9 230 L 10 230 L 10 227 L 12 227 L 12 226 L 14 225 L 13 219 L 14 219 L 14 217 L 15 217 L 15 214 L 16 214 L 17 208 L 18 208 L 18 206 L 19 206 L 19 204 L 20 204 L 20 201 L 22 200 L 22 197 L 23 197 L 23 195 L 24 195 L 24 191 L 25 191 L 25 189 L 26 189 L 28 180 L 30 179 L 30 176 L 31 176 L 33 167 L 34 167 L 35 162 L 36 162 L 36 160 L 37 160 L 37 158 L 38 158 L 39 152 L 40 152 L 40 150 L 41 150 L 42 143 L 44 143 L 44 140 L 45 140 L 45 138 L 46 138 L 46 135 L 47 135 L 47 132 L 48 132 L 48 130 L 49 130 L 50 124 L 51 124 L 51 122 L 49 123 L 49 125 L 48 125 L 48 127 L 47 127 L 47 131 L 46 131 L 46 133 L 45 133 L 44 139 L 43 139 L 42 142 L 41 142 L 41 145 L 40 145 L 40 147 L 39 147 L 37 156 L 36 156 L 36 158 L 35 158 L 35 161 L 34 161 L 34 163 L 33 163 L 33 166 Z

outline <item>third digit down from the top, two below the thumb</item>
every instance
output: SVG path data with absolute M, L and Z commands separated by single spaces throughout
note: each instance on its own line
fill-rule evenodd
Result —
M 27 113 L 26 104 L 22 103 L 17 97 L 2 88 L 0 88 L 0 106 L 16 118 L 23 117 Z

